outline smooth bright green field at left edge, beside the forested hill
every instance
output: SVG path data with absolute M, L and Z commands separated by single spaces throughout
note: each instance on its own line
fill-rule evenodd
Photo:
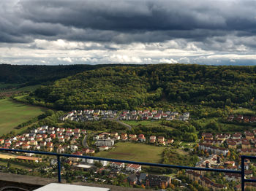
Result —
M 16 126 L 22 122 L 26 122 L 33 117 L 37 117 L 45 112 L 38 106 L 29 106 L 26 104 L 12 101 L 11 99 L 0 100 L 0 136 L 10 133 Z

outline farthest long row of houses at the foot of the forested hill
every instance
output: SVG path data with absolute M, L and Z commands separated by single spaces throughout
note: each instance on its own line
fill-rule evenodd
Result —
M 179 114 L 178 112 L 162 111 L 162 110 L 100 110 L 100 109 L 84 109 L 72 110 L 59 120 L 74 120 L 74 121 L 92 121 L 92 120 L 113 120 L 117 118 L 118 120 L 189 120 L 189 112 L 184 114 Z

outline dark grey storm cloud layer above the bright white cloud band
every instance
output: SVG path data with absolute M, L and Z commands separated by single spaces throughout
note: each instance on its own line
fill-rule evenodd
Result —
M 164 42 L 254 36 L 255 1 L 4 1 L 0 42 Z M 218 39 L 217 39 L 218 40 Z M 220 39 L 219 39 L 220 40 Z

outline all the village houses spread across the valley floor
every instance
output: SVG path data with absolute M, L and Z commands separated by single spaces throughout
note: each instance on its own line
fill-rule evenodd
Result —
M 89 112 L 89 110 L 85 111 Z M 90 114 L 94 115 L 94 112 L 99 111 L 91 110 Z M 120 114 L 118 114 L 118 112 L 108 112 L 110 117 L 132 116 L 132 112 L 129 111 L 122 111 Z M 143 113 L 144 115 L 147 115 L 152 112 L 144 111 Z M 99 115 L 101 116 L 101 114 L 104 113 L 105 111 L 100 111 Z M 79 111 L 69 112 L 69 117 L 66 117 L 70 120 L 76 120 L 80 117 L 80 114 L 84 117 L 83 112 Z M 165 114 L 165 112 L 163 112 L 163 114 Z M 162 114 L 160 115 L 162 116 Z M 185 115 L 189 116 L 189 114 L 183 114 L 182 117 Z M 178 114 L 175 116 L 178 116 Z M 121 119 L 124 120 L 124 118 Z M 119 120 L 121 119 L 119 118 Z M 128 119 L 129 118 L 127 118 L 127 120 Z M 180 119 L 180 117 L 178 117 L 178 119 Z M 63 120 L 63 118 L 60 120 Z M 238 160 L 229 160 L 230 152 L 235 152 L 238 155 L 256 155 L 255 135 L 256 130 L 252 130 L 252 132 L 246 130 L 244 133 L 235 132 L 233 134 L 202 133 L 200 142 L 197 144 L 195 149 L 197 149 L 198 153 L 203 152 L 203 157 L 201 157 L 201 160 L 197 162 L 196 167 L 230 170 L 241 169 L 241 164 Z M 91 141 L 91 146 L 88 147 L 88 144 L 86 144 L 87 136 L 87 130 L 85 129 L 55 128 L 43 125 L 42 127 L 30 130 L 29 133 L 23 133 L 22 135 L 14 136 L 10 139 L 0 139 L 0 145 L 1 147 L 8 149 L 31 149 L 47 152 L 70 153 L 72 155 L 80 156 L 93 156 L 97 152 L 108 152 L 108 150 L 115 149 L 115 144 L 119 141 L 153 144 L 156 147 L 171 147 L 175 141 L 173 139 L 166 139 L 165 136 L 155 136 L 154 134 L 146 137 L 142 133 L 129 134 L 125 132 L 99 132 L 93 133 L 91 140 L 89 140 Z M 19 155 L 15 158 L 18 160 L 31 160 L 36 163 L 42 162 L 42 158 L 33 157 L 32 154 L 29 153 L 27 153 L 26 156 Z M 111 178 L 116 178 L 118 174 L 124 174 L 127 176 L 125 181 L 130 186 L 143 185 L 145 187 L 170 187 L 170 185 L 173 185 L 171 183 L 172 179 L 174 180 L 174 178 L 170 178 L 170 176 L 148 174 L 146 171 L 143 171 L 143 167 L 141 165 L 135 164 L 116 162 L 108 163 L 108 161 L 105 160 L 80 159 L 77 157 L 69 157 L 63 162 L 69 165 L 73 171 L 93 170 L 95 173 L 99 171 L 108 171 Z M 255 163 L 246 160 L 246 178 L 251 179 L 254 177 L 252 171 L 252 168 L 254 167 Z M 219 184 L 215 182 L 215 180 L 212 180 L 211 177 L 208 177 L 203 171 L 186 171 L 186 174 L 191 181 L 197 181 L 203 187 L 212 187 L 213 190 L 227 189 L 226 184 Z M 241 182 L 241 177 L 237 174 L 225 174 L 223 177 L 226 182 Z M 86 179 L 81 179 L 81 181 L 86 181 Z M 91 175 L 91 179 L 96 182 L 105 182 L 105 179 L 98 179 L 97 177 L 94 177 L 94 175 Z M 181 180 L 179 179 L 175 179 L 175 182 L 179 182 L 179 184 L 181 184 Z M 236 187 L 238 188 L 239 185 L 236 185 Z

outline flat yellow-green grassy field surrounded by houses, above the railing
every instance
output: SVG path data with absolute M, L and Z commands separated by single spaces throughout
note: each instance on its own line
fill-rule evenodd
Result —
M 97 157 L 107 157 L 119 160 L 133 160 L 146 163 L 161 163 L 164 147 L 131 142 L 119 142 L 110 151 L 98 152 Z

